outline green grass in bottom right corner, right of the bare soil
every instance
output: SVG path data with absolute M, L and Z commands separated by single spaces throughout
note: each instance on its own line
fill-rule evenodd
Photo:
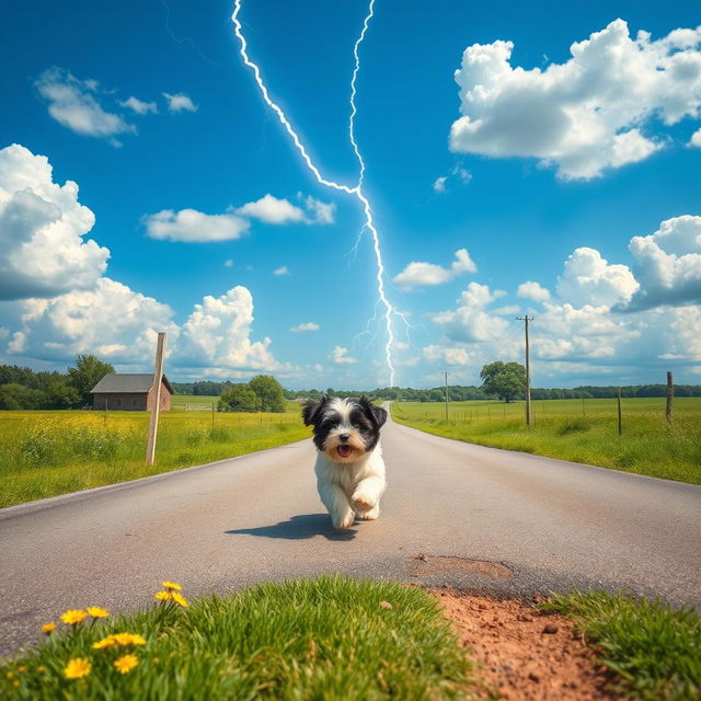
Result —
M 543 608 L 576 622 L 632 698 L 701 698 L 701 618 L 691 608 L 596 591 L 555 596 Z

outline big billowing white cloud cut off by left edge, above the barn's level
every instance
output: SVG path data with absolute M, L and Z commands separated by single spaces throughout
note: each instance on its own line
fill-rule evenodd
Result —
M 78 185 L 54 183 L 45 156 L 14 143 L 0 150 L 0 299 L 51 297 L 93 287 L 110 251 L 83 240 L 93 212 Z

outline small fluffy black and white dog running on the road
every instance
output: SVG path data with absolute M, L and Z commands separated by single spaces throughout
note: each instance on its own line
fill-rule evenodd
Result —
M 379 440 L 387 412 L 366 397 L 324 397 L 308 402 L 302 417 L 314 427 L 317 489 L 334 528 L 349 528 L 356 516 L 379 518 L 386 487 Z

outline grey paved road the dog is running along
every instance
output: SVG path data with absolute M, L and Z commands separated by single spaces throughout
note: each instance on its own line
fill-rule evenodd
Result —
M 701 486 L 388 422 L 379 521 L 337 535 L 311 440 L 0 509 L 0 653 L 66 608 L 126 610 L 322 572 L 529 595 L 625 587 L 701 604 Z M 418 558 L 420 553 L 422 558 Z

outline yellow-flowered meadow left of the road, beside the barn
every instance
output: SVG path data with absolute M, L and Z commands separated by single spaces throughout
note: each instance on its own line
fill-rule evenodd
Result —
M 188 402 L 183 401 L 184 399 Z M 147 412 L 0 412 L 0 507 L 274 448 L 309 436 L 299 405 L 285 414 L 185 411 L 218 398 L 175 397 L 147 467 Z M 196 401 L 195 401 L 196 400 Z

